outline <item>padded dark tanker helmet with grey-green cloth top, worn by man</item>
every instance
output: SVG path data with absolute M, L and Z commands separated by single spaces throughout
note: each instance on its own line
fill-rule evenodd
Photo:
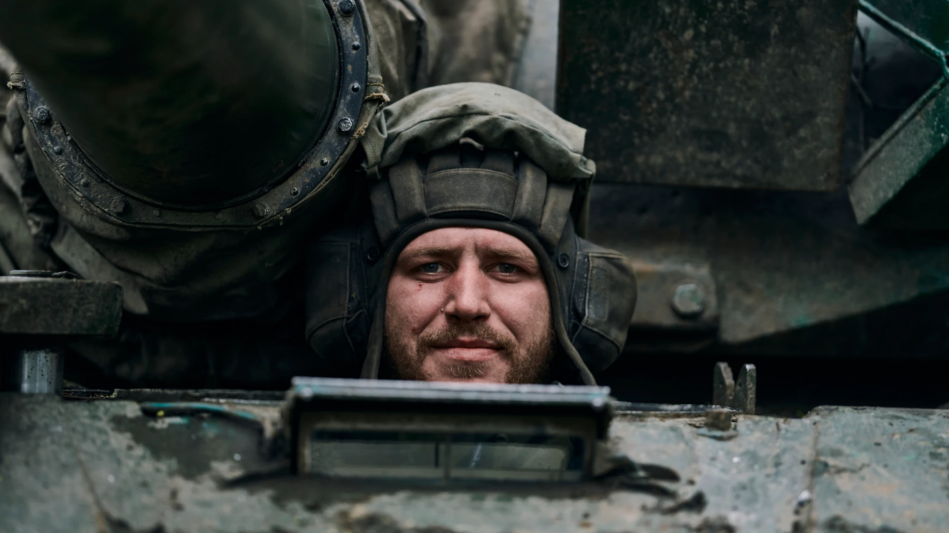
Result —
M 582 155 L 585 133 L 489 83 L 425 89 L 383 110 L 363 137 L 364 168 L 378 176 L 372 216 L 308 250 L 307 340 L 317 356 L 344 375 L 378 378 L 385 292 L 402 249 L 437 228 L 484 227 L 523 241 L 541 265 L 563 354 L 551 369 L 594 384 L 623 348 L 636 279 L 627 258 L 580 238 L 571 220 L 595 170 Z

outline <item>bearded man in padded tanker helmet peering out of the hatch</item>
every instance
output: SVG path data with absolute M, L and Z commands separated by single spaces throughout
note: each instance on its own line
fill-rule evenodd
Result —
M 317 355 L 366 379 L 593 384 L 623 347 L 636 282 L 579 235 L 584 135 L 485 83 L 386 108 L 362 140 L 370 212 L 308 254 Z

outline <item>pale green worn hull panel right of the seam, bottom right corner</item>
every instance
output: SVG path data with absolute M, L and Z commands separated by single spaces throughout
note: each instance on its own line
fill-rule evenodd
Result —
M 815 531 L 949 529 L 949 411 L 820 407 Z

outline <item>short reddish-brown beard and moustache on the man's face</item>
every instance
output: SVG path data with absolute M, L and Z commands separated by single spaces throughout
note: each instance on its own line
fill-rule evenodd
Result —
M 425 359 L 432 354 L 435 345 L 462 335 L 476 336 L 498 346 L 501 359 L 509 365 L 502 381 L 505 383 L 541 382 L 547 374 L 550 359 L 553 356 L 552 328 L 526 346 L 518 345 L 514 339 L 501 334 L 487 324 L 466 327 L 449 326 L 434 332 L 422 333 L 415 346 L 409 339 L 399 339 L 398 335 L 390 329 L 389 324 L 386 324 L 385 329 L 385 347 L 389 354 L 389 361 L 400 380 L 437 381 L 437 377 L 424 368 Z M 446 370 L 456 380 L 476 380 L 487 372 L 492 363 L 455 362 Z

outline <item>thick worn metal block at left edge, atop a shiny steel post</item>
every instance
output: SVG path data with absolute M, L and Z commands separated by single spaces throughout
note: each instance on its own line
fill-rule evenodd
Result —
M 0 334 L 114 335 L 118 282 L 0 276 Z

